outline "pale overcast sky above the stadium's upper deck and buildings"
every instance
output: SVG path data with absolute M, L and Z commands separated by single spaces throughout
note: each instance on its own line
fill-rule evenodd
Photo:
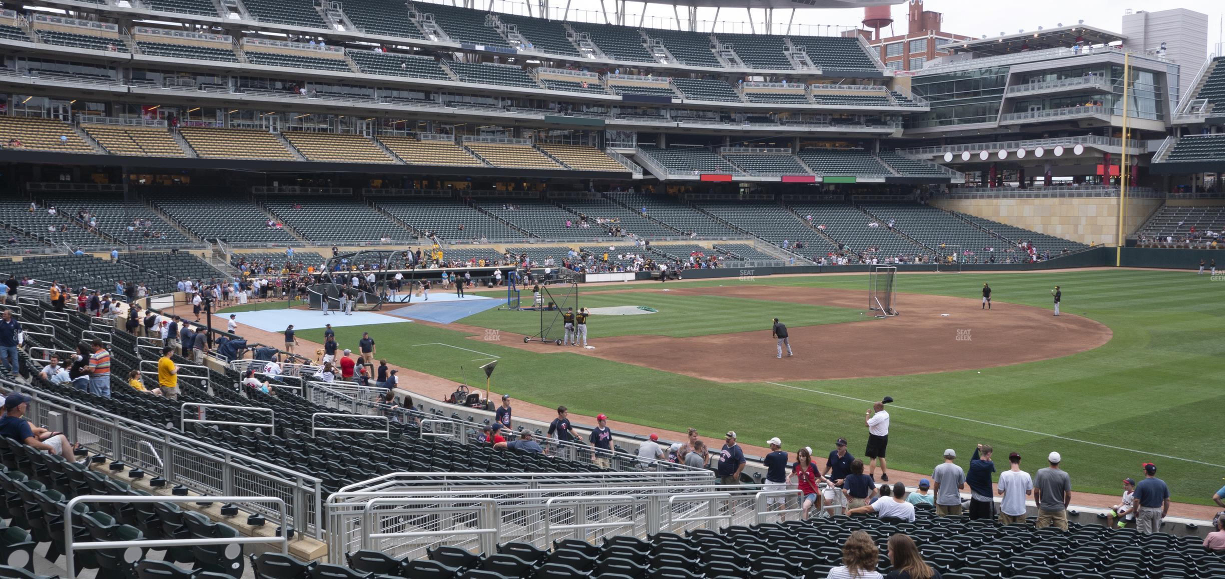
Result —
M 429 1 L 451 4 L 451 0 Z M 488 7 L 489 0 L 475 1 L 477 7 Z M 537 0 L 527 1 L 533 2 L 534 11 Z M 462 5 L 462 0 L 459 2 Z M 549 2 L 550 6 L 559 11 L 566 6 L 566 0 L 549 0 Z M 605 0 L 605 4 L 609 10 L 612 10 L 614 0 Z M 600 0 L 570 0 L 570 7 L 572 10 L 570 13 L 571 20 L 599 21 L 598 12 L 601 10 Z M 984 7 L 987 7 L 987 10 L 984 10 Z M 1208 15 L 1208 50 L 1210 53 L 1214 51 L 1216 43 L 1220 42 L 1220 18 L 1223 9 L 1225 9 L 1225 1 L 1221 0 L 1174 0 L 1169 2 L 1155 0 L 1023 0 L 1012 2 L 997 0 L 927 0 L 925 4 L 926 10 L 944 13 L 944 31 L 971 37 L 980 37 L 982 34 L 995 37 L 1001 32 L 1016 33 L 1022 28 L 1034 31 L 1039 26 L 1055 27 L 1060 22 L 1072 24 L 1079 20 L 1096 28 L 1120 32 L 1122 29 L 1123 12 L 1128 9 L 1155 12 L 1175 7 L 1183 7 Z M 495 0 L 494 10 L 524 13 L 524 0 Z M 573 11 L 576 10 L 590 12 L 575 13 Z M 642 2 L 630 2 L 626 12 L 635 15 L 635 20 L 627 23 L 637 24 L 637 15 L 641 15 L 642 11 Z M 673 6 L 669 4 L 648 5 L 646 12 L 648 18 L 644 26 L 668 26 L 663 20 L 652 22 L 652 17 L 671 20 L 673 13 Z M 790 10 L 777 10 L 774 12 L 775 26 L 780 23 L 785 24 L 790 13 Z M 680 15 L 682 18 L 687 17 L 684 9 L 680 11 Z M 557 17 L 560 17 L 560 13 Z M 701 9 L 698 18 L 707 21 L 707 28 L 704 29 L 708 31 L 710 26 L 709 21 L 714 20 L 714 9 Z M 763 11 L 756 10 L 753 18 L 760 23 L 763 20 Z M 794 23 L 815 24 L 818 27 L 816 33 L 824 33 L 826 27 L 829 27 L 829 31 L 834 31 L 835 27 L 856 27 L 862 18 L 862 9 L 809 9 L 796 10 Z M 725 9 L 719 12 L 720 26 L 733 26 L 731 23 L 734 22 L 747 22 L 747 20 L 744 9 Z M 897 33 L 904 33 L 907 29 L 907 4 L 904 1 L 893 6 L 893 29 Z M 747 26 L 744 27 L 744 32 L 750 32 Z M 757 32 L 762 31 L 757 29 Z M 796 29 L 794 32 L 800 33 L 801 31 Z M 813 33 L 811 29 L 802 32 Z

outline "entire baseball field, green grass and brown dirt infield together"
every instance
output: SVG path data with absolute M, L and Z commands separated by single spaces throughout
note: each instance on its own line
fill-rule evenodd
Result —
M 785 450 L 817 455 L 838 437 L 861 453 L 864 411 L 891 395 L 891 470 L 930 473 L 944 448 L 968 457 L 987 443 L 1019 452 L 1030 471 L 1058 450 L 1078 491 L 1116 495 L 1143 461 L 1159 465 L 1175 501 L 1208 504 L 1220 487 L 1225 283 L 1123 269 L 899 274 L 902 315 L 888 319 L 865 313 L 866 284 L 805 275 L 583 286 L 584 307 L 658 310 L 592 316 L 588 350 L 523 344 L 539 328 L 527 311 L 336 333 L 353 344 L 369 331 L 380 357 L 454 381 L 463 366 L 469 383 L 496 359 L 495 392 L 572 414 L 734 428 L 753 444 L 778 436 Z M 790 328 L 794 357 L 774 357 L 773 317 Z

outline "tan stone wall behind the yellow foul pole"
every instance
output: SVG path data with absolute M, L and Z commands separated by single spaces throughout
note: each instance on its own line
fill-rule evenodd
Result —
M 1123 234 L 1134 233 L 1161 203 L 1164 200 L 1159 198 L 1128 198 Z M 1117 244 L 1118 197 L 935 197 L 931 204 L 1085 245 Z

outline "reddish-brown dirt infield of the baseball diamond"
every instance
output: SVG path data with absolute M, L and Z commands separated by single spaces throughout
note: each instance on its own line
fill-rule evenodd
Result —
M 619 294 L 653 291 L 659 290 L 632 289 Z M 778 301 L 780 310 L 785 304 L 864 307 L 861 290 L 737 285 L 670 289 L 669 293 Z M 789 328 L 795 356 L 783 361 L 774 359 L 773 342 L 763 338 L 768 338 L 766 331 L 690 338 L 593 338 L 594 350 L 577 353 L 717 382 L 762 382 L 1008 366 L 1091 350 L 1110 342 L 1112 335 L 1110 328 L 1087 317 L 1063 315 L 1052 319 L 1049 310 L 1033 306 L 997 302 L 993 310 L 984 311 L 975 300 L 964 297 L 894 294 L 894 304 L 898 301 L 905 316 L 880 319 L 865 313 L 865 322 Z M 513 339 L 506 344 L 524 346 Z M 526 348 L 554 351 L 533 345 Z M 877 364 L 865 364 L 865 360 Z

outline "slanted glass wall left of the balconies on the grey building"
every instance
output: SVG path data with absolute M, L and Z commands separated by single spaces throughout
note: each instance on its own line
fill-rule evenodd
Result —
M 907 126 L 920 129 L 995 122 L 1000 116 L 1007 80 L 1007 67 L 916 76 L 911 89 L 931 103 L 931 111 L 910 116 Z

